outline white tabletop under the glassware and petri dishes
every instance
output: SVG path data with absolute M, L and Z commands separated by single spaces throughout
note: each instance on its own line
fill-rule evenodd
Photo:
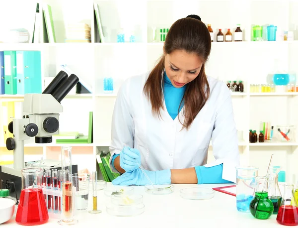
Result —
M 108 183 L 108 186 L 111 183 Z M 98 192 L 98 209 L 101 214 L 89 214 L 92 210 L 92 195 L 89 195 L 89 208 L 76 211 L 74 216 L 78 224 L 71 227 L 84 228 L 274 228 L 284 227 L 276 222 L 276 215 L 268 220 L 257 220 L 250 213 L 240 213 L 236 209 L 236 197 L 215 191 L 211 200 L 185 200 L 180 197 L 180 190 L 189 187 L 221 187 L 215 185 L 174 185 L 174 192 L 169 195 L 149 195 L 144 186 L 133 186 L 135 194 L 144 196 L 145 212 L 136 217 L 115 217 L 106 212 L 110 198 L 103 191 Z M 91 194 L 91 193 L 90 193 Z M 16 213 L 16 212 L 15 212 Z M 15 213 L 11 220 L 1 224 L 0 228 L 20 228 L 15 223 Z M 48 223 L 35 226 L 44 228 L 61 227 L 51 214 Z

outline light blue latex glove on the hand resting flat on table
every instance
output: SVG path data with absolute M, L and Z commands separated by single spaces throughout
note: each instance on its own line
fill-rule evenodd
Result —
M 171 170 L 149 171 L 144 170 L 153 184 L 170 184 Z M 147 185 L 151 184 L 141 169 L 126 172 L 112 181 L 113 185 Z

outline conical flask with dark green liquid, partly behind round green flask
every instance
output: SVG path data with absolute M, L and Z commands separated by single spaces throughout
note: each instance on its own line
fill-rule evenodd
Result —
M 282 194 L 278 186 L 278 175 L 275 173 L 269 174 L 268 197 L 273 203 L 273 214 L 276 215 L 282 203 Z

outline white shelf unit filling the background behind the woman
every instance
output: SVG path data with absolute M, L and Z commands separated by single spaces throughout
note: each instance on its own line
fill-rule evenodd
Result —
M 71 144 L 79 169 L 96 169 L 98 150 L 110 145 L 111 117 L 117 92 L 125 79 L 148 72 L 162 54 L 163 42 L 152 42 L 152 27 L 169 28 L 177 19 L 198 14 L 204 23 L 211 23 L 215 35 L 219 28 L 233 32 L 241 24 L 242 42 L 213 42 L 206 73 L 222 81 L 242 80 L 244 93 L 232 93 L 234 118 L 238 129 L 241 164 L 263 167 L 274 153 L 274 165 L 287 173 L 287 181 L 296 183 L 298 138 L 290 143 L 249 143 L 249 129 L 259 128 L 260 121 L 273 125 L 298 126 L 298 93 L 249 93 L 250 84 L 266 84 L 274 59 L 282 57 L 285 70 L 298 72 L 298 1 L 296 0 L 95 0 L 99 4 L 106 43 L 95 43 L 93 0 L 42 0 L 52 7 L 57 43 L 0 43 L 0 50 L 39 50 L 42 57 L 42 78 L 54 77 L 61 64 L 68 66 L 93 87 L 91 95 L 67 96 L 60 115 L 61 131 L 87 133 L 87 116 L 93 111 L 93 143 Z M 15 9 L 14 5 L 18 5 Z M 132 7 L 134 5 L 134 7 Z M 0 20 L 11 21 L 1 26 L 24 27 L 29 4 L 21 0 L 0 2 Z M 7 15 L 9 8 L 17 10 L 18 21 Z M 134 10 L 137 9 L 137 10 Z M 263 9 L 266 8 L 266 12 Z M 66 10 L 67 9 L 67 10 Z M 11 19 L 9 19 L 11 18 Z M 91 25 L 91 43 L 64 43 L 67 23 L 84 21 Z M 294 41 L 251 41 L 252 24 L 274 24 L 283 30 L 293 30 Z M 121 27 L 135 31 L 136 43 L 116 43 Z M 0 35 L 1 40 L 1 35 Z M 114 78 L 113 94 L 103 93 L 103 78 Z M 23 96 L 0 96 L 1 102 L 19 101 Z M 1 107 L 1 105 L 0 105 Z M 0 108 L 0 119 L 2 118 Z M 0 129 L 2 124 L 0 122 Z M 12 158 L 5 149 L 0 132 L 0 160 Z M 62 144 L 25 145 L 25 160 L 58 157 Z M 86 156 L 88 155 L 88 156 Z M 86 159 L 89 159 L 86 161 Z M 212 161 L 212 146 L 208 161 Z M 88 165 L 85 165 L 87 164 Z M 262 174 L 262 173 L 261 173 Z M 264 173 L 265 174 L 265 173 Z

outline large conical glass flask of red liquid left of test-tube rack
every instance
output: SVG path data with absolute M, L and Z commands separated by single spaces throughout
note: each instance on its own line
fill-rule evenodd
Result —
M 49 220 L 48 209 L 42 191 L 42 172 L 41 168 L 21 170 L 22 190 L 15 216 L 15 222 L 19 225 L 41 225 Z

